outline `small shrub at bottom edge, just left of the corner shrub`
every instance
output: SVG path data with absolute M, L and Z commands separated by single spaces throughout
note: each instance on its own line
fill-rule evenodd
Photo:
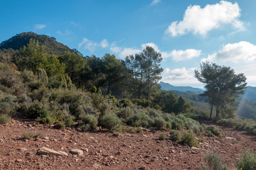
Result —
M 218 154 L 206 154 L 207 165 L 201 163 L 202 168 L 205 170 L 228 170 L 227 165 L 222 164 L 222 159 Z

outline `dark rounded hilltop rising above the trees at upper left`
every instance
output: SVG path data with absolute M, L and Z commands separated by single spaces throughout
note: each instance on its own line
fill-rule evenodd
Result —
M 70 52 L 78 52 L 77 50 L 71 50 L 68 46 L 57 42 L 55 38 L 48 35 L 38 35 L 33 32 L 20 33 L 14 35 L 9 40 L 5 40 L 0 44 L 0 50 L 13 49 L 19 50 L 21 47 L 26 46 L 30 39 L 38 40 L 39 45 L 46 47 L 46 52 L 48 54 L 62 55 L 64 51 L 68 50 Z

